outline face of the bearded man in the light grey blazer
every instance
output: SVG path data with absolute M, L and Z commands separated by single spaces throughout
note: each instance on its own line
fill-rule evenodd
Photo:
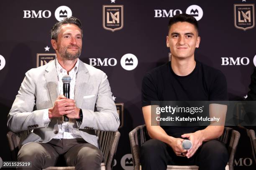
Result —
M 74 24 L 61 25 L 58 39 L 52 40 L 56 53 L 66 60 L 74 60 L 81 54 L 82 33 Z

